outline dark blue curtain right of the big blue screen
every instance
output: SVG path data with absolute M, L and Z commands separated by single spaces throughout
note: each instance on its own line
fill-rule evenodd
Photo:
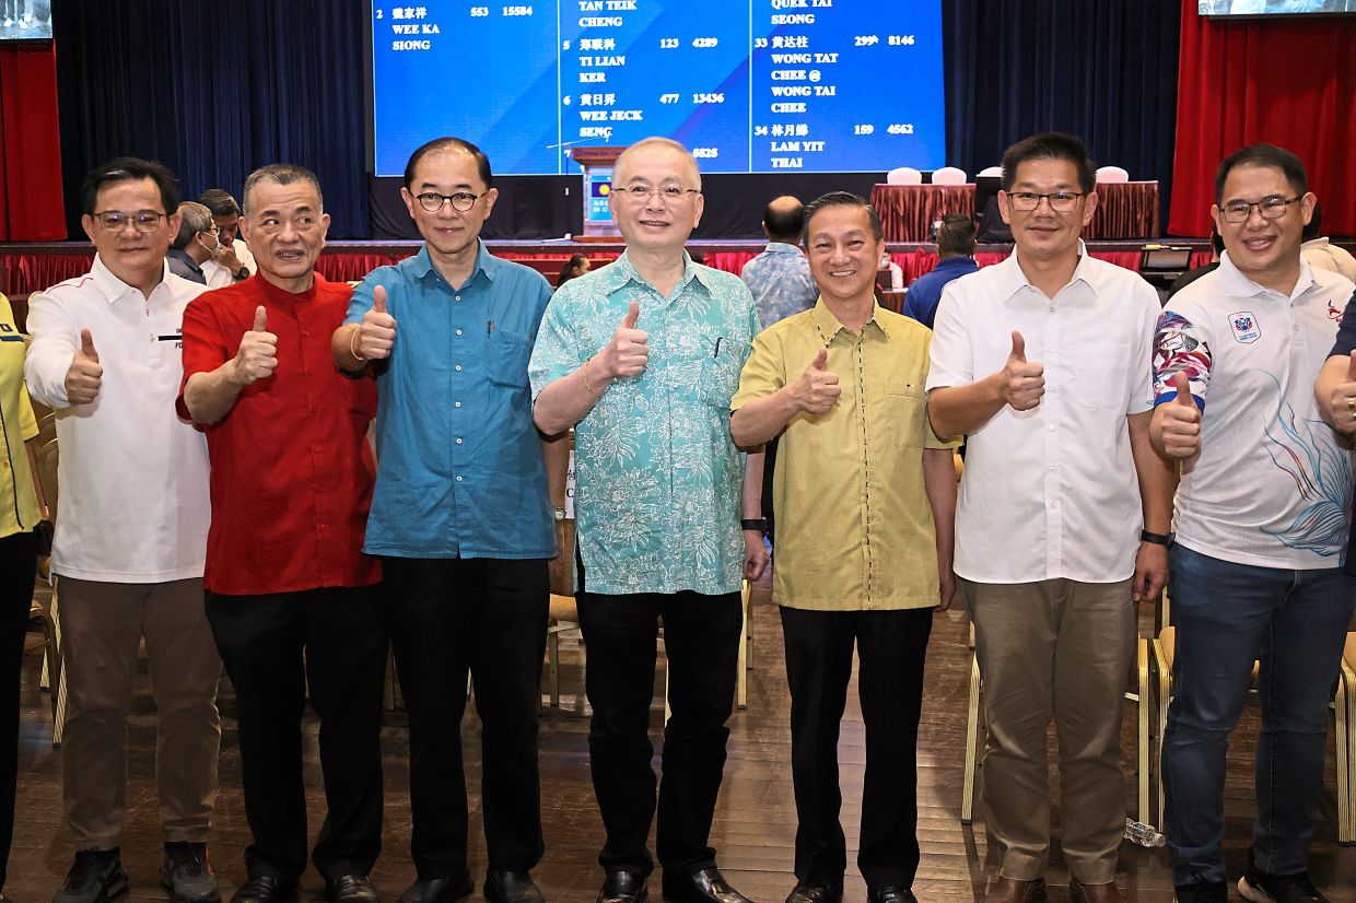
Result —
M 946 156 L 970 174 L 1036 132 L 1158 179 L 1168 210 L 1182 0 L 944 0 Z M 1166 217 L 1163 217 L 1166 222 Z

